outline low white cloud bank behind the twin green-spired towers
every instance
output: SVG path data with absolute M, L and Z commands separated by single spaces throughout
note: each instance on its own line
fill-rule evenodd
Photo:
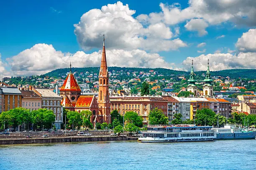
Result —
M 210 70 L 227 70 L 227 69 L 242 69 L 251 68 L 256 69 L 256 53 L 255 52 L 241 52 L 238 55 L 230 53 L 215 53 L 200 55 L 198 57 L 187 57 L 182 63 L 186 70 L 191 68 L 191 60 L 194 60 L 195 70 L 207 70 L 207 60 L 210 60 Z

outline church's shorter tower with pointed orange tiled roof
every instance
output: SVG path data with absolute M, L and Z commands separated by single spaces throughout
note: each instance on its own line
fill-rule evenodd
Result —
M 81 89 L 77 84 L 76 79 L 71 71 L 71 62 L 70 62 L 70 71 L 69 74 L 64 81 L 61 89 L 59 90 L 59 94 L 62 97 L 61 105 L 66 107 L 68 110 L 74 110 L 78 97 L 81 95 Z

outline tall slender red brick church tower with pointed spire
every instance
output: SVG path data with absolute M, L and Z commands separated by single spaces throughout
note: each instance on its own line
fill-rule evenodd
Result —
M 97 102 L 99 105 L 100 122 L 111 123 L 110 100 L 109 100 L 109 91 L 108 91 L 108 66 L 107 66 L 107 60 L 106 60 L 104 35 L 103 35 L 102 58 L 101 58 L 100 73 L 99 73 L 99 95 L 98 95 Z

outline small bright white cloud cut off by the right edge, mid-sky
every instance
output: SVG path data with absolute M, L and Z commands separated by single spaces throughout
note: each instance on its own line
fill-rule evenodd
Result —
M 256 29 L 250 29 L 244 32 L 236 42 L 238 50 L 243 52 L 256 52 Z

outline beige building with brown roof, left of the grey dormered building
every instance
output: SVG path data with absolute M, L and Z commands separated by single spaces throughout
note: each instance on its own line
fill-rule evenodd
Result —
M 42 97 L 32 90 L 20 90 L 22 93 L 21 107 L 29 110 L 38 110 L 41 108 Z

